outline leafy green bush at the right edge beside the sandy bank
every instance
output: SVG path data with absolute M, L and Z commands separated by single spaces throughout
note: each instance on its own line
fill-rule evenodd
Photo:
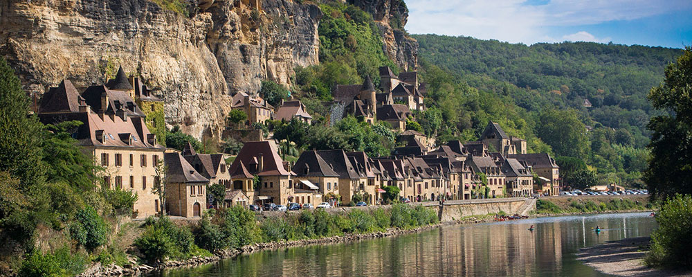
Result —
M 650 266 L 692 267 L 692 196 L 675 195 L 659 211 L 658 229 L 651 235 Z

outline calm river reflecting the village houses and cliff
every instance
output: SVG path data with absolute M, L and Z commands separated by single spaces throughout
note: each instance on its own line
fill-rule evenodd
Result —
M 531 224 L 534 231 L 528 230 Z M 603 229 L 599 234 L 592 229 L 597 225 Z M 151 276 L 605 276 L 575 260 L 576 252 L 650 235 L 656 226 L 649 213 L 457 224 L 347 244 L 259 251 Z

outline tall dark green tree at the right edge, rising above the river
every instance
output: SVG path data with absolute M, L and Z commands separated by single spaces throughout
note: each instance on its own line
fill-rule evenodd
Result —
M 644 181 L 652 197 L 692 194 L 692 48 L 666 68 L 664 84 L 648 96 L 662 116 L 651 118 L 651 155 Z M 668 112 L 666 112 L 668 111 Z

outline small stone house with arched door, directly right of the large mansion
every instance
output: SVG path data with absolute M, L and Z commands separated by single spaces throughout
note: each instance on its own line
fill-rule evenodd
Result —
M 166 209 L 169 215 L 201 217 L 207 208 L 209 179 L 194 170 L 180 153 L 165 153 L 168 168 Z

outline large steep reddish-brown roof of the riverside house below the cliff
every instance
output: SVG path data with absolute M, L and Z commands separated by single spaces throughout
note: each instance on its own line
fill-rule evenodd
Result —
M 233 161 L 233 165 L 230 166 L 230 172 L 237 172 L 237 167 L 240 166 L 241 162 L 248 166 L 253 164 L 253 162 L 255 164 L 258 163 L 260 154 L 262 154 L 263 160 L 262 171 L 253 172 L 251 168 L 248 168 L 250 173 L 257 173 L 259 176 L 291 175 L 291 172 L 284 169 L 283 161 L 279 157 L 278 151 L 268 141 L 246 142 L 235 161 Z

